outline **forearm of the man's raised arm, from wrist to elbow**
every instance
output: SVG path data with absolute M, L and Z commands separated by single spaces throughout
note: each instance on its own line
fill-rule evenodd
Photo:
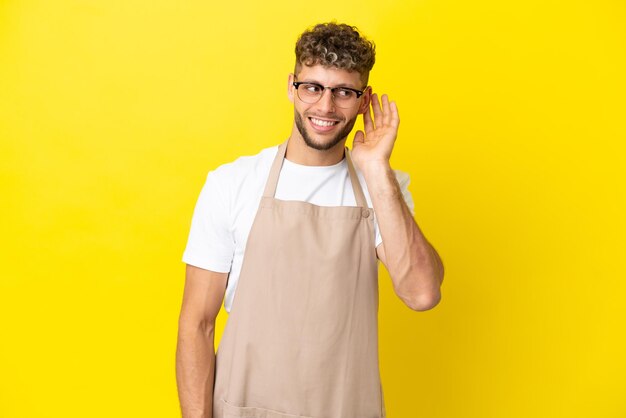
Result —
M 441 297 L 443 264 L 407 207 L 388 163 L 363 173 L 383 239 L 384 261 L 398 296 L 412 309 L 426 310 Z

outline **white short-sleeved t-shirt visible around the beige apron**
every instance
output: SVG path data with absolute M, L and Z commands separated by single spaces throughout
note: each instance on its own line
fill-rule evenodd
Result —
M 277 151 L 278 146 L 266 148 L 209 172 L 196 203 L 183 261 L 205 270 L 230 272 L 224 299 L 227 312 L 235 297 L 248 235 Z M 407 190 L 409 176 L 397 170 L 395 174 L 413 213 L 413 199 Z M 371 208 L 367 185 L 358 169 L 357 175 Z M 274 197 L 317 206 L 356 206 L 345 158 L 331 166 L 305 166 L 285 158 Z M 382 238 L 376 217 L 374 226 L 378 246 Z

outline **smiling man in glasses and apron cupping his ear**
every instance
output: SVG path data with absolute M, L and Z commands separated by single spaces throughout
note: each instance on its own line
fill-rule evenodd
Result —
M 373 65 L 356 28 L 306 31 L 288 79 L 288 141 L 209 173 L 183 256 L 184 418 L 385 416 L 377 259 L 417 311 L 439 302 L 443 266 L 389 165 L 398 109 L 367 86 Z M 349 152 L 359 114 L 365 132 Z M 230 314 L 214 354 L 222 300 Z

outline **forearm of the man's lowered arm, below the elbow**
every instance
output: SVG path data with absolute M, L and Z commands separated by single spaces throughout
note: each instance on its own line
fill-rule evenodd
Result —
M 176 381 L 183 418 L 213 417 L 214 329 L 179 327 Z

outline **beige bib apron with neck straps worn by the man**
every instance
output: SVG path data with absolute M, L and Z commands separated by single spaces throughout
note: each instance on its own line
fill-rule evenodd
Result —
M 217 350 L 213 418 L 383 418 L 373 212 L 274 198 L 278 148 Z

